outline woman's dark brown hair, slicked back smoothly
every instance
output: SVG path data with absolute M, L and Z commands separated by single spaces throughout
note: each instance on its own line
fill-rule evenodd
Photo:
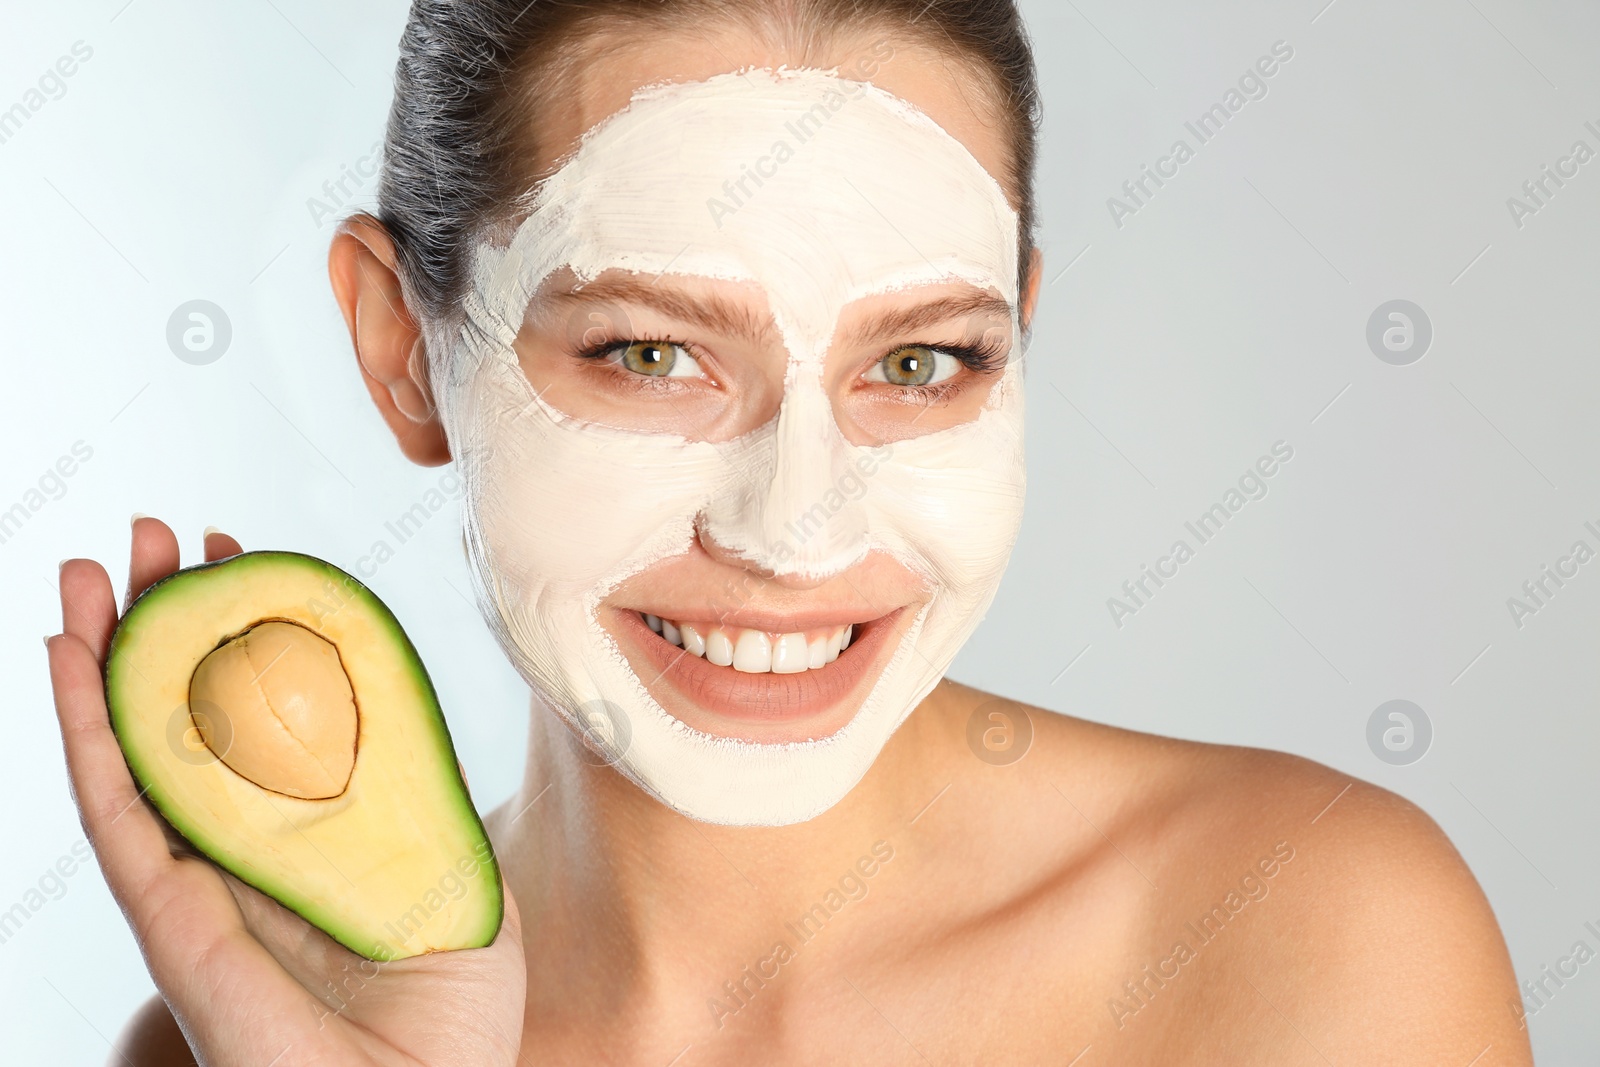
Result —
M 1003 184 L 1018 200 L 1018 277 L 1026 291 L 1040 104 L 1016 0 L 413 0 L 395 66 L 378 218 L 398 248 L 418 310 L 434 322 L 453 317 L 469 242 L 507 216 L 531 184 L 531 83 L 563 46 L 614 30 L 618 21 L 693 30 L 718 18 L 806 48 L 870 30 L 910 32 L 987 75 L 1008 126 Z

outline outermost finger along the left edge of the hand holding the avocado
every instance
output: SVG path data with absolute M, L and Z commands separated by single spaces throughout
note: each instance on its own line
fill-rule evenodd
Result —
M 99 661 L 72 633 L 53 637 L 45 646 L 83 832 L 106 872 L 106 883 L 123 907 L 133 909 L 144 899 L 146 886 L 173 864 L 166 838 L 157 816 L 139 803 L 141 790 L 112 734 Z

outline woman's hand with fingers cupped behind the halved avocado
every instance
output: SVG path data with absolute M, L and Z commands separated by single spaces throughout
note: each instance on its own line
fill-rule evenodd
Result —
M 240 552 L 219 533 L 206 560 Z M 165 523 L 133 523 L 123 611 L 178 569 Z M 208 1067 L 514 1064 L 526 971 L 510 891 L 486 949 L 365 960 L 190 849 L 142 800 L 106 713 L 117 601 L 93 560 L 61 568 L 64 632 L 46 640 L 78 816 L 150 976 Z

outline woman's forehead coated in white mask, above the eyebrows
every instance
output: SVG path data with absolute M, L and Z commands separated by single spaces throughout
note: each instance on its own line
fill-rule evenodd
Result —
M 546 179 L 494 267 L 507 317 L 560 269 L 754 282 L 790 352 L 874 293 L 965 282 L 1016 304 L 1016 214 L 931 117 L 829 72 L 646 86 Z

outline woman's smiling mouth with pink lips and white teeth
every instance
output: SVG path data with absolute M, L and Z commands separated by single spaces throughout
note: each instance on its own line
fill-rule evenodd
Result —
M 733 613 L 682 617 L 666 605 L 602 605 L 600 624 L 670 717 L 714 737 L 822 741 L 856 717 L 922 605 L 875 617 Z

